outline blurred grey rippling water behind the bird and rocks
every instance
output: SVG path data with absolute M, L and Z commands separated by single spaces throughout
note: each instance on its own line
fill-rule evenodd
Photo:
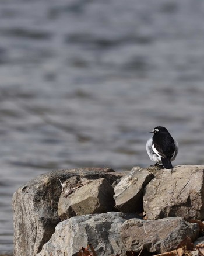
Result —
M 147 131 L 204 165 L 204 1 L 0 1 L 0 252 L 12 194 L 55 169 L 152 162 Z

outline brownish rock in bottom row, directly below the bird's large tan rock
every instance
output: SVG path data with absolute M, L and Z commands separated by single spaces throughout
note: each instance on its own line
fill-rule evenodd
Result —
M 185 222 L 181 217 L 160 220 L 126 220 L 122 224 L 121 239 L 127 251 L 163 253 L 174 250 L 189 236 L 192 240 L 199 234 L 196 223 Z

